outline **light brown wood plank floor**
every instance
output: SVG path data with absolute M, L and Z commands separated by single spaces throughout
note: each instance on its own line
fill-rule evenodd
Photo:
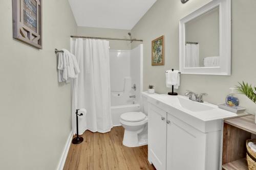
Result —
M 86 131 L 80 144 L 71 144 L 64 169 L 155 169 L 147 161 L 147 145 L 136 148 L 122 144 L 123 127 L 109 133 Z

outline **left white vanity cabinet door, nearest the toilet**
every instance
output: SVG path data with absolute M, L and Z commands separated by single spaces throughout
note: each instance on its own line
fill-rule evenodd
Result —
M 166 115 L 162 109 L 148 105 L 148 161 L 157 170 L 166 169 Z

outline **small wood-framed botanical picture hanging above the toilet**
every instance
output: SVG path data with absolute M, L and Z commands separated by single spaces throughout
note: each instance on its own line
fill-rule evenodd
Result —
M 152 65 L 164 65 L 164 36 L 152 41 Z

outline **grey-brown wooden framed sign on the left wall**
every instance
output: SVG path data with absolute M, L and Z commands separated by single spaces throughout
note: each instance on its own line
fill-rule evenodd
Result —
M 12 0 L 13 38 L 42 49 L 41 0 Z

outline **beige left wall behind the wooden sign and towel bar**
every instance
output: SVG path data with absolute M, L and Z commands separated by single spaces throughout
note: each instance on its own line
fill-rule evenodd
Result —
M 68 1 L 42 2 L 43 50 L 12 38 L 12 1 L 0 1 L 0 169 L 56 169 L 71 132 L 70 84 L 58 83 L 54 48 L 70 48 Z

